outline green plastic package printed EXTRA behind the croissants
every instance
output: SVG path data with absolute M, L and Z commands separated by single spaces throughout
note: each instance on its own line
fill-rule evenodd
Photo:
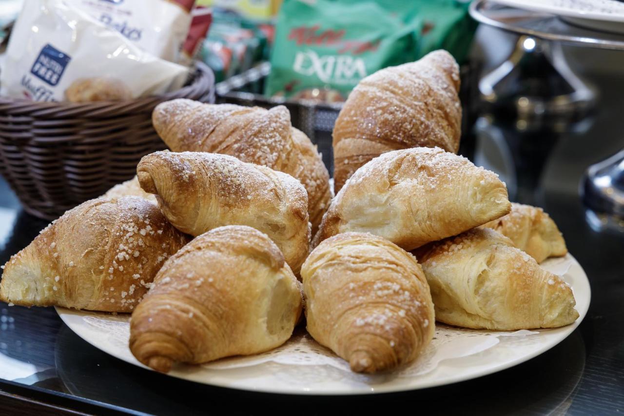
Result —
M 265 94 L 344 101 L 369 74 L 416 60 L 420 21 L 393 14 L 373 1 L 285 0 Z

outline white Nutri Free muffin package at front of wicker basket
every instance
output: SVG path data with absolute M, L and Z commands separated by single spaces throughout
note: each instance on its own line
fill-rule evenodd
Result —
M 187 76 L 186 67 L 144 52 L 66 0 L 26 0 L 9 40 L 0 94 L 34 101 L 65 101 L 67 91 L 78 101 L 136 98 L 178 89 Z M 89 91 L 106 84 L 114 88 Z

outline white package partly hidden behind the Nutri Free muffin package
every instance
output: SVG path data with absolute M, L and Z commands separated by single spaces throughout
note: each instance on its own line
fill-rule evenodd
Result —
M 178 62 L 195 0 L 66 0 L 145 52 Z

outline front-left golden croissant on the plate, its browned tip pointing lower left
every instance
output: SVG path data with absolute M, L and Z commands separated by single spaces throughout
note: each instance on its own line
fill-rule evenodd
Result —
M 165 262 L 132 314 L 130 350 L 160 372 L 256 354 L 286 342 L 301 309 L 278 247 L 251 227 L 219 227 Z

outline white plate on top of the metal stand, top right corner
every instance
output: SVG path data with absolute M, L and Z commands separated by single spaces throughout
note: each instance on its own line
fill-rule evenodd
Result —
M 624 32 L 624 2 L 616 0 L 491 0 L 505 6 L 548 14 L 598 31 Z

